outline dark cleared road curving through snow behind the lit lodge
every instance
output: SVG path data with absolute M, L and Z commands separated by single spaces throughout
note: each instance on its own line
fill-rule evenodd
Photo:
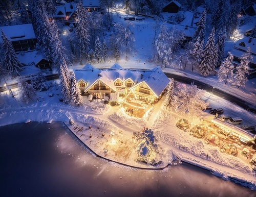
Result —
M 217 95 L 219 97 L 222 97 L 223 99 L 225 99 L 225 100 L 227 100 L 231 103 L 234 103 L 234 104 L 236 104 L 236 105 L 238 105 L 238 106 L 256 114 L 256 106 L 253 106 L 253 105 L 249 104 L 248 102 L 243 101 L 243 100 L 239 99 L 238 97 L 233 96 L 233 95 L 231 95 L 227 92 L 224 92 L 220 89 L 217 89 L 216 87 L 212 87 L 209 84 L 205 84 L 201 81 L 191 79 L 191 78 L 188 78 L 188 77 L 178 76 L 178 75 L 174 75 L 174 74 L 168 73 L 168 72 L 164 72 L 164 73 L 168 78 L 173 78 L 175 81 L 178 81 L 178 82 L 182 82 L 182 83 L 186 83 L 186 84 L 191 84 L 191 83 L 194 82 L 194 84 L 198 88 L 204 89 L 207 92 L 212 92 L 215 95 Z M 46 79 L 48 81 L 56 80 L 56 79 L 59 79 L 59 76 L 57 74 L 48 75 L 48 76 L 46 76 Z M 27 82 L 30 83 L 30 80 L 27 80 Z M 8 86 L 9 86 L 10 89 L 17 88 L 18 83 L 9 84 Z M 0 87 L 0 92 L 6 91 L 6 90 L 8 90 L 7 87 Z

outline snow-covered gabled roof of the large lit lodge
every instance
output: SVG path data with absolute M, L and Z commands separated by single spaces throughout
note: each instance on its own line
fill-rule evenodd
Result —
M 116 67 L 117 65 L 114 64 L 113 66 Z M 87 83 L 85 91 L 87 91 L 97 80 L 100 80 L 116 91 L 114 84 L 116 79 L 120 79 L 121 81 L 131 79 L 136 82 L 133 87 L 145 82 L 158 97 L 169 83 L 169 79 L 159 67 L 153 68 L 152 70 L 125 69 L 121 66 L 121 68 L 113 69 L 112 67 L 109 69 L 96 69 L 88 64 L 80 70 L 74 70 L 74 73 L 77 81 L 83 80 Z

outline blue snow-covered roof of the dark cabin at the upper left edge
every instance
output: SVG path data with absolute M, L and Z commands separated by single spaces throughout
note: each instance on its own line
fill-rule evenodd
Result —
M 18 24 L 16 26 L 0 27 L 11 42 L 19 40 L 35 39 L 35 32 L 32 24 Z M 2 42 L 2 38 L 0 37 Z

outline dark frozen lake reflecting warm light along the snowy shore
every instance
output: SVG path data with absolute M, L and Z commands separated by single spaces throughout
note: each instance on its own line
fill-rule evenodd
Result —
M 62 122 L 0 127 L 0 196 L 255 196 L 182 163 L 161 170 L 96 157 Z

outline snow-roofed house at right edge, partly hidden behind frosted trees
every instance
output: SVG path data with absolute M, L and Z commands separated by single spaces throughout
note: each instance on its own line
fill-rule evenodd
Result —
M 252 79 L 256 77 L 256 39 L 252 37 L 244 37 L 238 40 L 230 53 L 233 55 L 233 63 L 234 65 L 239 65 L 241 62 L 241 57 L 246 53 L 248 47 L 251 49 L 252 60 L 249 63 L 249 75 L 248 79 Z

